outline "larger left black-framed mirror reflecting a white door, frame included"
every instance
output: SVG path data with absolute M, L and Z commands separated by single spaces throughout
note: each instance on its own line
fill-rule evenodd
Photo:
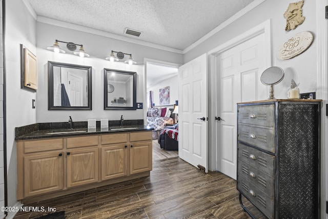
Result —
M 48 61 L 48 110 L 92 110 L 91 66 Z

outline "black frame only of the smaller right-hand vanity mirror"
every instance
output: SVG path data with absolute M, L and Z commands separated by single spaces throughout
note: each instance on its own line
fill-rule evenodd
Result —
M 107 72 L 115 72 L 117 74 L 128 74 L 133 76 L 133 106 L 132 107 L 109 107 L 108 106 L 108 79 Z M 137 72 L 122 71 L 116 69 L 104 68 L 104 110 L 136 110 L 137 109 Z

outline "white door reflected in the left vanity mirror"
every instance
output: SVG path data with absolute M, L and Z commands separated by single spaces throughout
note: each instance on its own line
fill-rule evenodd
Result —
M 76 74 L 68 72 L 68 96 L 71 106 L 83 105 L 83 79 Z

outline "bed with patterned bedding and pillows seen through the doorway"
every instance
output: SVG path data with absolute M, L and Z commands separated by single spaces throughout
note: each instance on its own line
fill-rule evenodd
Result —
M 168 107 L 152 107 L 147 111 L 147 126 L 154 128 L 153 139 L 157 139 L 161 130 L 167 125 L 173 125 L 173 109 Z

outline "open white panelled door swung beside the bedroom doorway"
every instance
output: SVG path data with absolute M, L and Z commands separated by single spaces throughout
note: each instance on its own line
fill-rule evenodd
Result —
M 179 157 L 208 172 L 207 54 L 181 66 L 179 75 Z

